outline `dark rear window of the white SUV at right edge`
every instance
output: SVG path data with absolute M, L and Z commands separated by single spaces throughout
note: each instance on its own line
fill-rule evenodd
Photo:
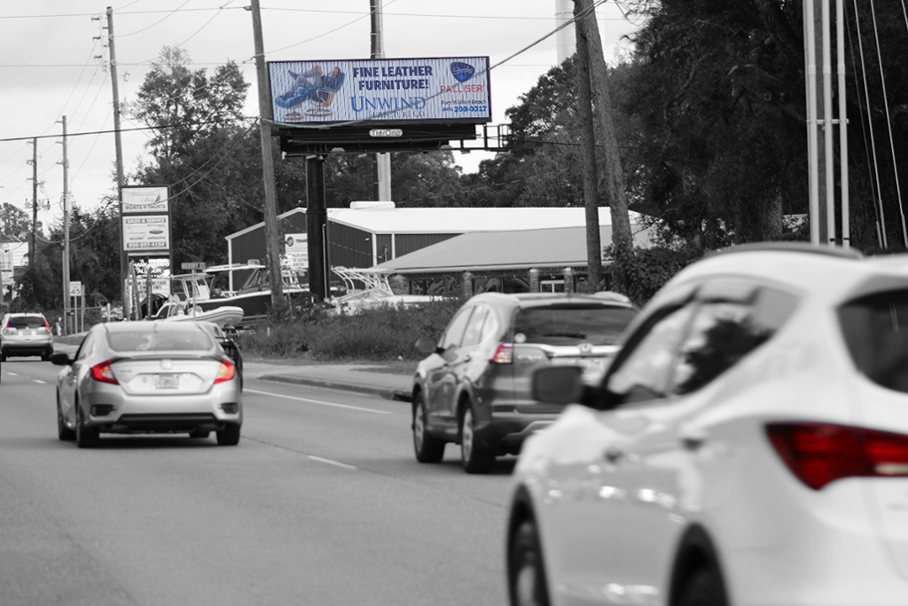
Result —
M 842 305 L 838 315 L 858 370 L 878 385 L 908 393 L 908 290 L 868 294 Z

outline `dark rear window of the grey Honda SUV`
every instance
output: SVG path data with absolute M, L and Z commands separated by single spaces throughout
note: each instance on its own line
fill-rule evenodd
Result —
M 635 312 L 627 307 L 531 307 L 518 311 L 515 343 L 614 345 Z

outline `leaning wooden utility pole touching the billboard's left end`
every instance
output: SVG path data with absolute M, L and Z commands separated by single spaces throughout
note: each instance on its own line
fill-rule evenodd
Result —
M 265 185 L 265 251 L 271 272 L 271 309 L 283 309 L 281 243 L 278 226 L 277 195 L 274 191 L 274 159 L 271 157 L 271 94 L 265 71 L 265 43 L 262 39 L 262 13 L 259 0 L 252 0 L 252 31 L 255 38 L 255 73 L 259 80 L 259 134 L 262 140 L 262 181 Z

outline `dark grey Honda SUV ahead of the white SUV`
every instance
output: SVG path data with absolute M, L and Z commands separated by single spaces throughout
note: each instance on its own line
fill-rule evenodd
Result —
M 491 471 L 528 435 L 548 426 L 563 405 L 535 402 L 530 373 L 548 364 L 580 364 L 587 380 L 604 372 L 636 314 L 617 293 L 482 293 L 454 314 L 428 354 L 412 391 L 413 447 L 419 462 L 439 462 L 460 445 L 468 473 Z

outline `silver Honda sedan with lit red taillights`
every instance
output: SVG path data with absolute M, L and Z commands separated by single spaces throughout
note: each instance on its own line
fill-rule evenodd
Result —
M 79 448 L 101 433 L 216 432 L 240 442 L 242 390 L 236 365 L 198 323 L 96 324 L 71 356 L 54 353 L 57 431 Z

